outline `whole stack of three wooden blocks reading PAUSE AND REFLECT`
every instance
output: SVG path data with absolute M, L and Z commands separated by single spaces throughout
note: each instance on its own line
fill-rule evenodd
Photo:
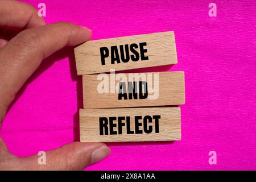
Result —
M 176 64 L 174 32 L 88 41 L 75 57 L 83 85 L 81 142 L 181 139 L 184 72 L 114 73 Z

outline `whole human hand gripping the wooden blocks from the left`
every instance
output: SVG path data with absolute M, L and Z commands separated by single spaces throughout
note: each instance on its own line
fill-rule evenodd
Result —
M 18 1 L 0 0 L 0 17 L 1 126 L 15 94 L 41 61 L 64 46 L 86 42 L 92 32 L 67 22 L 46 24 L 34 7 Z M 47 164 L 39 165 L 38 155 L 18 158 L 0 137 L 0 170 L 80 170 L 109 154 L 104 143 L 74 142 L 47 151 Z

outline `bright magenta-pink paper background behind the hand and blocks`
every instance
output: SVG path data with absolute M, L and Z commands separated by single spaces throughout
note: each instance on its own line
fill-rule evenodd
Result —
M 175 31 L 178 64 L 143 71 L 185 71 L 182 140 L 109 143 L 112 154 L 88 170 L 256 169 L 255 1 L 213 1 L 216 18 L 203 0 L 43 2 L 47 23 L 88 26 L 93 40 Z M 44 60 L 3 122 L 10 151 L 28 156 L 77 140 L 81 92 L 72 49 Z M 217 165 L 208 163 L 212 150 Z

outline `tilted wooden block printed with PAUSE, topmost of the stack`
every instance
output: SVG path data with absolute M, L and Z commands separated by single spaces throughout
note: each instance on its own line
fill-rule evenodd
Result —
M 176 64 L 174 32 L 91 40 L 75 48 L 77 75 Z

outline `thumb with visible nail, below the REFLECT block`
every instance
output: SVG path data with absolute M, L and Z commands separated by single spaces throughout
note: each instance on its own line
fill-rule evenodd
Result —
M 15 170 L 82 170 L 106 158 L 109 154 L 110 148 L 104 143 L 73 142 L 47 151 L 45 156 L 32 155 L 17 158 L 11 161 L 13 164 L 9 167 Z M 39 163 L 41 157 L 45 158 L 46 164 Z

